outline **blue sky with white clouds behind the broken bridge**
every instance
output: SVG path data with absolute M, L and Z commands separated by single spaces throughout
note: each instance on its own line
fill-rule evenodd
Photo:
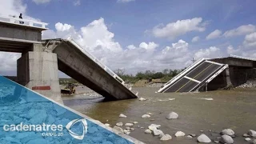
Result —
M 49 23 L 42 38 L 71 36 L 112 70 L 182 69 L 192 58 L 256 58 L 254 0 L 0 0 L 0 15 Z M 15 75 L 21 54 L 0 53 Z

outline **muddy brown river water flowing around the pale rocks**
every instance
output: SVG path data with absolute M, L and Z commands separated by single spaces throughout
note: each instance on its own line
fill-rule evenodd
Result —
M 231 128 L 237 135 L 234 142 L 243 144 L 249 142 L 244 140 L 242 134 L 248 130 L 256 130 L 256 88 L 183 94 L 155 93 L 158 88 L 151 87 L 133 90 L 138 91 L 139 96 L 147 100 L 101 102 L 102 98 L 86 96 L 86 94 L 77 94 L 63 99 L 66 106 L 102 123 L 109 123 L 111 126 L 117 122 L 138 122 L 134 125 L 135 130 L 130 133 L 130 136 L 146 143 L 198 143 L 196 138 L 175 138 L 174 134 L 179 130 L 186 135 L 203 133 L 212 140 L 218 140 L 222 129 Z M 170 101 L 169 98 L 175 99 Z M 202 98 L 213 98 L 213 100 L 208 101 Z M 166 115 L 171 111 L 178 113 L 178 119 L 166 119 Z M 146 113 L 152 113 L 151 117 L 142 118 L 142 114 Z M 118 118 L 119 114 L 125 114 L 127 118 Z M 158 136 L 145 134 L 144 130 L 152 123 L 161 125 L 160 130 L 173 138 L 162 142 Z

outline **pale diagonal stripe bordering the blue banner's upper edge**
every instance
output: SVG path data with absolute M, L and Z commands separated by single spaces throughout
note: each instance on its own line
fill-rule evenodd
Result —
M 17 82 L 14 82 L 15 84 L 17 84 L 18 86 L 22 86 L 20 84 L 18 84 Z M 25 86 L 22 86 L 24 87 L 26 90 L 30 90 L 29 88 L 25 87 Z M 42 94 L 39 94 L 38 92 L 34 91 L 34 90 L 30 90 L 30 91 L 33 91 L 35 94 L 38 94 L 40 96 L 42 96 L 42 98 L 46 98 L 47 100 L 49 100 L 50 102 L 54 102 L 55 104 L 57 104 L 58 106 L 62 106 L 63 108 L 65 108 L 66 110 L 70 110 L 71 112 L 73 112 L 74 114 L 78 114 L 79 116 L 81 116 L 82 118 L 86 118 L 88 120 L 90 120 L 91 122 L 94 122 L 95 124 L 97 124 L 98 126 L 102 126 L 102 128 L 105 128 L 106 130 L 110 130 L 110 132 L 114 133 L 114 134 L 117 134 L 119 135 L 120 137 L 122 138 L 125 138 L 126 140 L 130 141 L 130 142 L 133 142 L 134 144 L 145 144 L 144 142 L 141 142 L 139 141 L 138 139 L 135 139 L 135 138 L 132 138 L 130 137 L 129 135 L 126 135 L 126 134 L 123 134 L 122 132 L 118 131 L 118 130 L 114 130 L 113 128 L 111 128 L 110 126 L 106 126 L 104 125 L 102 122 L 99 122 L 98 120 L 95 120 L 93 118 L 90 118 L 88 117 L 87 115 L 85 114 L 82 114 L 76 110 L 73 110 L 71 109 L 70 107 L 68 106 L 64 106 L 62 103 L 60 102 L 57 102 L 53 99 L 50 99 L 50 98 L 47 98 L 46 96 L 42 95 Z

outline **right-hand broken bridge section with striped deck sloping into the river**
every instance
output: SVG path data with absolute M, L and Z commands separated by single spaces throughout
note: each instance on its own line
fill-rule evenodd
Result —
M 256 77 L 256 59 L 230 55 L 227 58 L 202 58 L 166 82 L 159 93 L 218 90 L 238 86 Z

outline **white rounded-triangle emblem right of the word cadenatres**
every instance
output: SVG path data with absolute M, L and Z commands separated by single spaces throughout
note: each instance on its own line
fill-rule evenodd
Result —
M 75 134 L 73 131 L 70 130 L 70 127 L 73 126 L 74 124 L 78 123 L 78 122 L 82 122 L 82 135 Z M 71 135 L 73 138 L 82 140 L 82 139 L 84 138 L 85 134 L 87 133 L 87 122 L 86 122 L 86 118 L 83 118 L 83 119 L 74 119 L 73 121 L 69 122 L 69 123 L 66 125 L 66 130 L 69 131 L 70 135 Z

